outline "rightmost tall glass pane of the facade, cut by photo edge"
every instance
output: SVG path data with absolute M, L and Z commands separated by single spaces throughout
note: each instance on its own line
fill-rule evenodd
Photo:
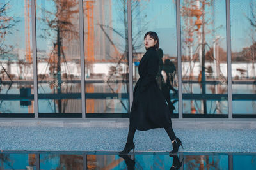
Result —
M 230 1 L 232 110 L 256 113 L 256 2 Z

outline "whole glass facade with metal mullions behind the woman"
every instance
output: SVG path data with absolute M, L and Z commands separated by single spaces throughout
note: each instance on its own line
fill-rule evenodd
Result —
M 256 118 L 255 1 L 8 0 L 0 9 L 0 117 L 129 117 L 143 36 L 155 31 L 156 80 L 168 84 L 174 118 Z

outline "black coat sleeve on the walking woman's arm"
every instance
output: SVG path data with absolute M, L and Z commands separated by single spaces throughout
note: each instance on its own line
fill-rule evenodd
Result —
M 148 85 L 156 79 L 158 72 L 158 57 L 157 55 L 150 55 L 147 63 L 147 74 L 143 77 L 140 85 L 140 92 L 143 92 L 147 89 Z

